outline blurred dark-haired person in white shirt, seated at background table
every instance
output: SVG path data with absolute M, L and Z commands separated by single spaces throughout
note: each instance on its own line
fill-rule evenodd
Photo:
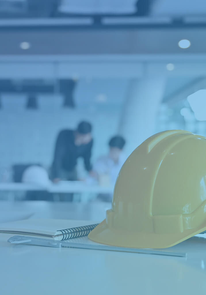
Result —
M 109 153 L 97 159 L 93 165 L 93 177 L 101 186 L 114 186 L 118 173 L 126 161 L 123 153 L 125 140 L 122 136 L 116 135 L 109 141 Z M 104 201 L 110 201 L 111 195 L 99 195 Z

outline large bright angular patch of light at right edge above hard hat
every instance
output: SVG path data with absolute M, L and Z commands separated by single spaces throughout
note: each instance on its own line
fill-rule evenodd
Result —
M 187 101 L 198 121 L 206 121 L 206 89 L 198 90 L 189 95 Z

